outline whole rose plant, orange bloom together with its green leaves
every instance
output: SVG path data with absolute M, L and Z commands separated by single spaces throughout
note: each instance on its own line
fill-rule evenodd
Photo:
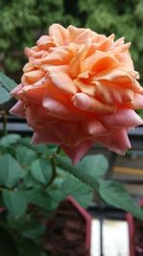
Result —
M 19 85 L 0 73 L 0 104 L 16 97 L 10 113 L 26 118 L 33 129 L 32 139 L 6 134 L 5 119 L 0 140 L 3 255 L 49 255 L 45 220 L 68 196 L 88 207 L 94 192 L 143 221 L 143 210 L 122 184 L 106 179 L 106 158 L 84 156 L 93 143 L 124 153 L 131 148 L 129 129 L 142 124 L 134 110 L 143 107 L 143 89 L 129 48 L 123 38 L 53 24 L 49 35 L 26 48 L 28 63 Z

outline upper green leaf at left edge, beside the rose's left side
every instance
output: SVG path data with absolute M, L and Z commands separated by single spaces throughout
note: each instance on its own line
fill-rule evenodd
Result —
M 8 92 L 14 89 L 17 86 L 15 81 L 12 81 L 9 77 L 0 72 L 0 84 L 3 86 Z

